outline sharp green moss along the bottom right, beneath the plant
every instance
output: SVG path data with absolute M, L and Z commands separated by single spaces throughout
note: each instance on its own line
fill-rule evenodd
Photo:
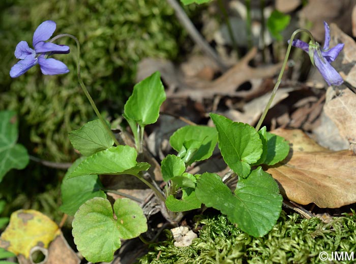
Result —
M 167 232 L 167 240 L 155 244 L 140 263 L 325 263 L 318 257 L 322 251 L 356 251 L 354 215 L 323 223 L 316 217 L 302 219 L 282 211 L 277 224 L 262 238 L 245 234 L 223 215 L 205 216 L 198 224 L 204 226 L 191 246 L 175 247 Z

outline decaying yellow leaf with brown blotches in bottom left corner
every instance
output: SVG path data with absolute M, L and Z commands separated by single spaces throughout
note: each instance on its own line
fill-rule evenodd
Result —
M 18 210 L 11 214 L 10 223 L 0 237 L 0 247 L 29 257 L 34 246 L 47 248 L 61 234 L 55 222 L 36 210 Z

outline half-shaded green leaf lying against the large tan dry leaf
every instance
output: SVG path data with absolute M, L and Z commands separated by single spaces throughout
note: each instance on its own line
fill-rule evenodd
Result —
M 267 156 L 263 164 L 274 165 L 285 159 L 289 153 L 289 142 L 269 132 L 267 132 L 267 146 Z

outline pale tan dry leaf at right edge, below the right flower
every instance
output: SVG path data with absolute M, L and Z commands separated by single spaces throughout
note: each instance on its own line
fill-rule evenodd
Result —
M 338 93 L 338 94 L 337 94 Z M 324 112 L 334 121 L 340 135 L 350 144 L 356 144 L 356 94 L 344 88 L 336 92 L 332 87 L 327 91 Z

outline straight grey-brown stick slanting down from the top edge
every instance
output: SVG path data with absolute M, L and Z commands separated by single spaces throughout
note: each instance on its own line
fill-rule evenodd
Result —
M 198 30 L 195 28 L 192 21 L 190 21 L 189 17 L 187 16 L 186 12 L 184 12 L 180 4 L 178 4 L 176 0 L 167 0 L 167 2 L 174 9 L 178 20 L 181 21 L 182 25 L 188 31 L 188 34 L 194 40 L 194 42 L 200 46 L 206 55 L 212 57 L 220 69 L 225 72 L 227 70 L 225 63 L 220 59 L 219 55 L 212 49 L 209 43 L 207 43 L 206 40 L 200 36 Z

